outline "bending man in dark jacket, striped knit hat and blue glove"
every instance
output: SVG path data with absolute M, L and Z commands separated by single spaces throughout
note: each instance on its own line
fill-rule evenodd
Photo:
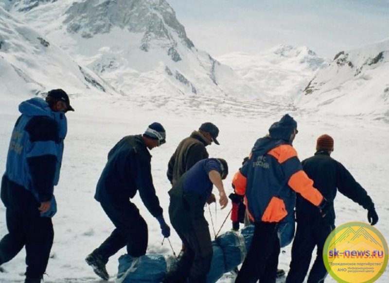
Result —
M 109 257 L 124 246 L 133 257 L 146 253 L 147 224 L 135 204 L 130 202 L 137 191 L 147 210 L 157 218 L 162 235 L 170 236 L 170 228 L 163 218 L 153 185 L 149 153 L 149 150 L 164 144 L 165 137 L 165 129 L 155 122 L 143 135 L 125 136 L 108 153 L 94 198 L 100 202 L 116 229 L 85 259 L 104 280 L 109 279 L 106 271 Z

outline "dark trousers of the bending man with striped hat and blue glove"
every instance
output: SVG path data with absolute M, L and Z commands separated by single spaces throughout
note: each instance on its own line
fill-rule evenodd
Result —
M 147 224 L 139 209 L 131 202 L 121 204 L 100 203 L 116 229 L 93 251 L 107 263 L 110 256 L 127 246 L 127 253 L 133 257 L 144 255 L 147 250 Z

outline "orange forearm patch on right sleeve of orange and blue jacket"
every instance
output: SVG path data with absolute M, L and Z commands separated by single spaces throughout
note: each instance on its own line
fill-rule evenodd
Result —
M 323 196 L 318 189 L 313 186 L 313 181 L 309 179 L 307 174 L 300 170 L 294 173 L 288 181 L 288 185 L 301 196 L 318 206 L 323 200 Z

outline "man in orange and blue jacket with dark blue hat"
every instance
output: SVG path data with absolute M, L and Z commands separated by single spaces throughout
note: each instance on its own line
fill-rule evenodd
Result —
M 280 253 L 278 225 L 293 214 L 296 193 L 324 215 L 328 202 L 313 187 L 301 167 L 292 142 L 297 122 L 288 114 L 275 122 L 269 135 L 256 141 L 249 160 L 234 177 L 235 193 L 245 196 L 254 235 L 236 283 L 275 283 Z

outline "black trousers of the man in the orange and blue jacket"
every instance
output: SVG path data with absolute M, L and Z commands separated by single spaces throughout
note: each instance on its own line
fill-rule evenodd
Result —
M 258 222 L 254 227 L 250 249 L 235 283 L 275 283 L 280 254 L 277 223 Z

